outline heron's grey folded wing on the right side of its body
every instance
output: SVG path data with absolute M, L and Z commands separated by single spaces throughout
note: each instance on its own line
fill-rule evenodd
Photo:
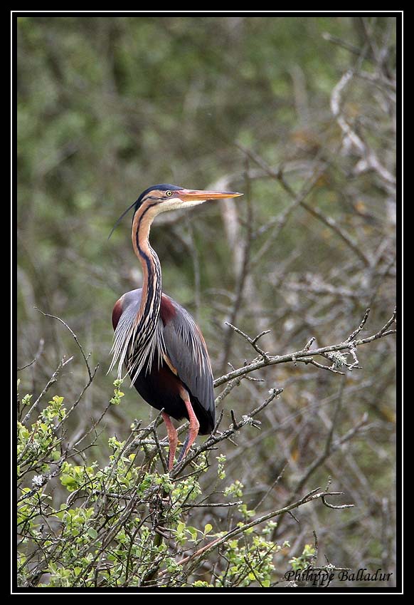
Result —
M 166 294 L 161 299 L 161 320 L 167 356 L 191 395 L 211 415 L 214 425 L 213 373 L 200 329 L 186 309 Z

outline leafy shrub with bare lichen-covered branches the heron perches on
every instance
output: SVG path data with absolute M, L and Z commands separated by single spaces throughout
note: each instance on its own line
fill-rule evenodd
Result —
M 54 319 L 70 330 L 63 320 Z M 380 331 L 355 340 L 367 319 L 368 310 L 359 327 L 342 343 L 311 351 L 311 339 L 302 351 L 284 356 L 262 351 L 258 347 L 261 334 L 250 338 L 233 326 L 259 356 L 243 368 L 216 380 L 216 386 L 227 383 L 216 403 L 221 403 L 240 380 L 248 378 L 249 373 L 265 365 L 306 363 L 317 355 L 327 358 L 329 353 L 348 350 L 356 360 L 347 366 L 351 371 L 358 364 L 358 346 L 395 332 L 390 329 L 396 321 L 394 312 Z M 329 502 L 327 497 L 342 494 L 329 491 L 329 485 L 325 490 L 318 487 L 296 497 L 305 477 L 284 506 L 258 515 L 245 504 L 241 482 L 218 490 L 225 480 L 225 455 L 216 456 L 215 483 L 210 479 L 213 489 L 206 495 L 202 493 L 200 480 L 204 473 L 208 472 L 210 476 L 213 473 L 210 461 L 217 445 L 223 440 L 231 440 L 248 426 L 260 428 L 256 417 L 282 393 L 282 389 L 276 388 L 240 420 L 236 420 L 232 410 L 233 422 L 225 430 L 220 430 L 221 411 L 211 436 L 193 448 L 170 473 L 165 460 L 168 443 L 166 438 L 160 440 L 157 433 L 160 415 L 146 428 L 141 428 L 140 423 L 134 424 L 124 442 L 110 438 L 112 454 L 105 467 L 99 467 L 97 462 L 74 464 L 73 460 L 80 456 L 85 458 L 85 450 L 96 442 L 97 427 L 105 413 L 76 443 L 68 442 L 65 423 L 92 383 L 97 369 L 90 368 L 78 338 L 71 330 L 70 333 L 80 348 L 89 377 L 75 403 L 66 410 L 63 397 L 55 395 L 40 411 L 41 398 L 55 383 L 60 369 L 70 361 L 65 358 L 33 405 L 30 395 L 18 400 L 21 418 L 18 422 L 18 579 L 21 586 L 248 586 L 252 583 L 271 586 L 280 581 L 274 578 L 274 557 L 289 548 L 287 541 L 279 544 L 271 539 L 277 527 L 273 519 L 293 515 L 293 510 L 317 500 L 334 510 L 354 506 Z M 335 365 L 336 361 L 332 358 L 331 361 Z M 317 366 L 329 369 L 321 364 Z M 109 405 L 120 404 L 124 395 L 120 391 L 121 384 L 122 381 L 115 381 L 114 395 L 106 410 Z M 35 411 L 36 420 L 30 425 Z M 356 435 L 365 424 L 366 418 L 363 418 L 359 425 L 335 442 L 332 423 L 324 454 L 315 465 L 322 464 L 332 451 Z M 184 424 L 179 433 L 185 429 Z M 82 447 L 92 430 L 95 437 Z M 51 497 L 56 478 L 70 492 L 59 509 L 55 508 Z M 218 494 L 224 495 L 223 501 L 215 501 Z M 188 524 L 194 512 L 199 514 L 200 510 L 208 519 L 211 510 L 235 510 L 237 514 L 235 520 L 233 514 L 230 517 L 230 527 L 220 531 L 210 522 L 203 528 Z M 236 522 L 236 519 L 240 520 Z M 212 557 L 214 552 L 218 552 L 218 557 Z M 308 554 L 303 557 L 302 568 L 295 559 L 298 569 L 308 569 L 314 562 L 315 549 L 307 546 L 304 552 Z M 205 576 L 208 581 L 198 579 Z

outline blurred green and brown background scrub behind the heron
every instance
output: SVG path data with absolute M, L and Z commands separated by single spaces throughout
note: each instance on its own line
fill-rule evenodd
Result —
M 102 413 L 115 378 L 106 376 L 112 306 L 141 280 L 130 217 L 107 237 L 139 193 L 160 182 L 246 194 L 163 214 L 152 228 L 163 289 L 196 316 L 215 376 L 255 356 L 228 332 L 229 319 L 251 336 L 271 329 L 262 346 L 274 354 L 300 349 L 311 336 L 319 346 L 339 343 L 367 306 L 363 335 L 380 329 L 395 301 L 395 187 L 362 162 L 369 148 L 395 171 L 395 48 L 393 17 L 19 17 L 18 366 L 39 353 L 19 373 L 21 392 L 40 393 L 63 354 L 75 358 L 51 394 L 70 403 L 86 382 L 70 334 L 37 306 L 63 319 L 91 351 L 91 365 L 100 364 L 74 433 Z M 366 145 L 362 155 L 332 112 L 349 69 L 356 76 L 340 104 Z M 285 217 L 293 198 L 278 170 L 295 193 L 320 172 L 307 202 L 354 248 L 301 205 Z M 331 534 L 333 511 L 311 519 L 324 552 L 356 569 L 393 565 L 391 341 L 361 348 L 363 371 L 349 373 L 343 394 L 339 432 L 368 411 L 373 436 L 339 448 L 303 488 L 332 475 L 334 487 L 357 500 L 357 512 L 344 512 Z M 268 388 L 285 387 L 282 403 L 262 418 L 260 438 L 253 430 L 250 445 L 239 441 L 253 505 L 290 460 L 275 495 L 280 504 L 320 454 L 340 377 L 292 364 L 260 377 L 266 382 L 244 381 L 225 400 L 225 418 L 230 407 L 247 413 Z M 107 435 L 125 438 L 134 418 L 154 417 L 134 390 L 125 393 L 106 416 L 95 460 L 107 455 Z M 239 477 L 240 457 L 229 459 Z M 300 550 L 312 541 L 309 527 L 287 519 L 283 537 L 294 543 L 297 532 Z

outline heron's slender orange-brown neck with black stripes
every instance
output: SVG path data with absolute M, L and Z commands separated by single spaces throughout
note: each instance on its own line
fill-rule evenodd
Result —
M 156 252 L 149 244 L 149 229 L 154 217 L 154 208 L 144 206 L 137 210 L 132 222 L 132 245 L 141 262 L 143 275 L 142 299 L 137 321 L 139 330 L 144 330 L 148 336 L 152 336 L 156 330 L 161 307 L 161 265 Z

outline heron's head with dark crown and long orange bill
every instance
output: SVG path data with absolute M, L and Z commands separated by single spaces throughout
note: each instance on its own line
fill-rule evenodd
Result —
M 134 212 L 145 205 L 149 209 L 153 209 L 152 212 L 156 215 L 167 210 L 197 206 L 207 202 L 207 200 L 238 197 L 239 195 L 243 195 L 243 193 L 184 189 L 184 187 L 177 187 L 177 185 L 153 185 L 139 196 L 137 202 L 135 202 Z

